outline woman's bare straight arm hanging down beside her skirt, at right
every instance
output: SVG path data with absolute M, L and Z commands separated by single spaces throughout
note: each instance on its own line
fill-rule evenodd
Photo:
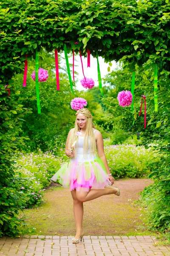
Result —
M 104 152 L 104 144 L 103 144 L 102 134 L 100 131 L 96 131 L 95 135 L 96 135 L 96 146 L 97 146 L 98 157 L 104 163 L 107 174 L 109 175 L 109 174 L 111 174 L 111 172 L 109 170 L 108 162 L 106 160 L 106 156 L 105 156 L 105 152 Z

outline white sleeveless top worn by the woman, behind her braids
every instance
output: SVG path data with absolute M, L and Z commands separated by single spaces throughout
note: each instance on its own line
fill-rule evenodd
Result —
M 95 133 L 96 130 L 94 130 Z M 90 141 L 88 140 L 88 142 L 90 143 Z M 90 154 L 90 149 L 88 147 L 88 152 L 85 153 L 85 158 L 83 156 L 83 143 L 84 143 L 84 136 L 79 136 L 79 140 L 78 140 L 78 147 L 77 147 L 77 154 L 76 157 L 72 157 L 72 160 L 77 160 L 78 162 L 84 162 L 84 161 L 91 161 L 96 159 L 96 154 L 93 155 L 92 153 Z

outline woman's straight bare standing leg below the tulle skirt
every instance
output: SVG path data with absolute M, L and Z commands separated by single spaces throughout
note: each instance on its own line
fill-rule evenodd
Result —
M 77 230 L 75 238 L 79 239 L 82 235 L 83 202 L 77 200 L 76 189 L 71 191 L 71 195 L 73 198 L 73 211 Z

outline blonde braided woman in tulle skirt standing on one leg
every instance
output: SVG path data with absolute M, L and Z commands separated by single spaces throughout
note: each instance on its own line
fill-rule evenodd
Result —
M 78 243 L 79 239 L 82 241 L 83 202 L 102 195 L 120 195 L 119 189 L 111 186 L 115 179 L 105 157 L 102 134 L 95 129 L 91 112 L 81 108 L 76 116 L 75 128 L 69 131 L 65 147 L 65 154 L 71 161 L 65 163 L 51 178 L 59 180 L 62 186 L 71 190 L 77 228 L 73 243 Z M 75 150 L 71 148 L 73 144 Z

